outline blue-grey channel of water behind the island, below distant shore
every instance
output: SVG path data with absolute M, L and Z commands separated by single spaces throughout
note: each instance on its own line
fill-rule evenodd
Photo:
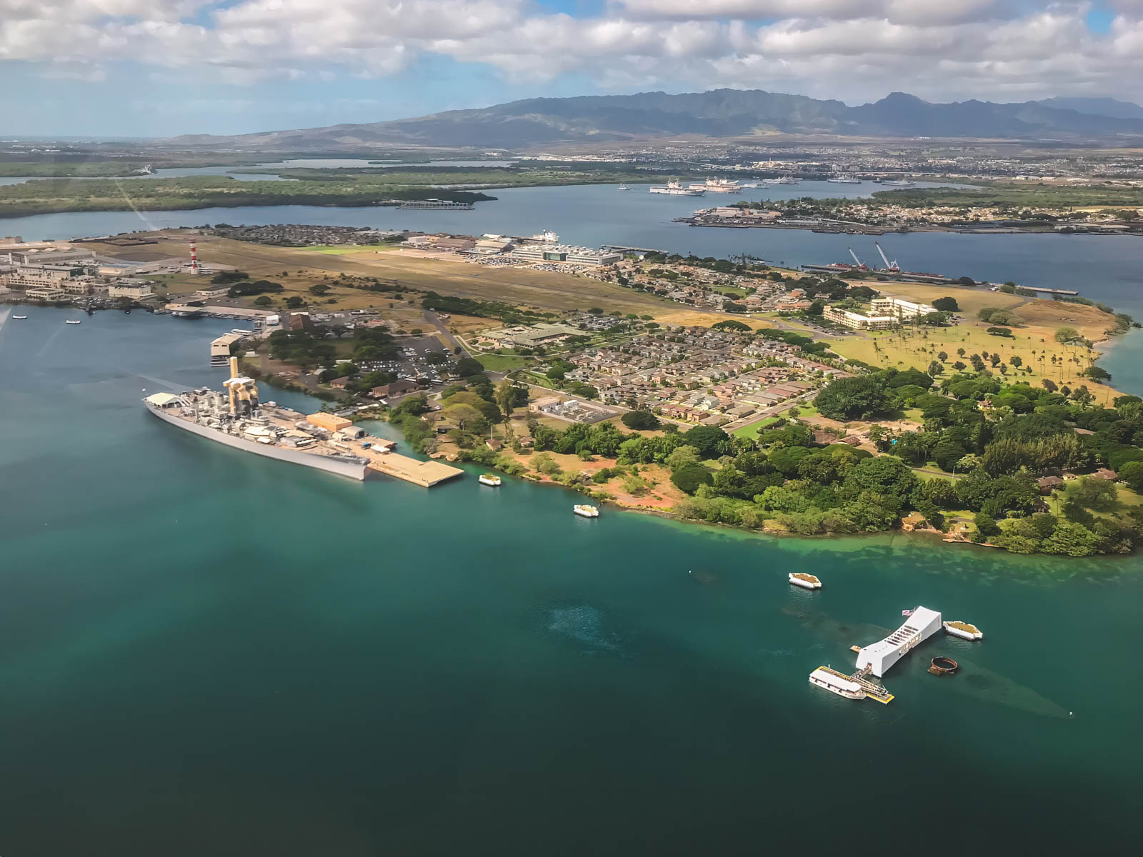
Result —
M 211 168 L 216 169 L 216 168 Z M 81 211 L 0 219 L 0 231 L 27 240 L 106 235 L 205 223 L 309 223 L 377 229 L 409 229 L 459 234 L 530 235 L 551 229 L 563 241 L 588 247 L 605 243 L 648 247 L 700 256 L 749 254 L 774 263 L 802 265 L 849 261 L 853 248 L 866 262 L 877 258 L 873 238 L 822 234 L 807 230 L 696 229 L 673 223 L 696 208 L 737 199 L 869 195 L 878 185 L 838 185 L 804 182 L 799 186 L 749 189 L 742 197 L 696 199 L 646 192 L 647 185 L 616 191 L 615 185 L 512 187 L 490 191 L 495 201 L 477 203 L 472 211 L 398 210 L 397 208 L 337 208 L 326 206 L 262 206 L 205 208 L 179 211 Z M 877 239 L 902 265 L 1030 286 L 1079 289 L 1097 301 L 1143 317 L 1140 259 L 1143 241 L 1125 235 L 1002 234 L 970 235 L 950 232 L 887 234 Z M 1093 262 L 1098 261 L 1098 267 Z

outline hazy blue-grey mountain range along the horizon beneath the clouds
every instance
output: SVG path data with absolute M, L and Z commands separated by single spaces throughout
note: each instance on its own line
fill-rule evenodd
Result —
M 713 89 L 678 95 L 528 98 L 413 119 L 237 136 L 186 135 L 167 143 L 184 149 L 294 152 L 385 145 L 528 149 L 679 135 L 749 137 L 775 133 L 1018 141 L 1143 137 L 1143 107 L 1111 98 L 937 104 L 906 93 L 890 93 L 878 102 L 850 107 L 839 101 L 761 89 Z

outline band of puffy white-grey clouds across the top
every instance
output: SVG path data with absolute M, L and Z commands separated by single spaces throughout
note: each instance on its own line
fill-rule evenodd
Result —
M 185 81 L 384 78 L 447 56 L 536 86 L 758 87 L 865 101 L 1098 93 L 1137 97 L 1143 0 L 0 0 L 0 63 L 98 80 L 117 61 Z M 53 71 L 54 70 L 54 71 Z M 493 96 L 493 99 L 495 96 Z

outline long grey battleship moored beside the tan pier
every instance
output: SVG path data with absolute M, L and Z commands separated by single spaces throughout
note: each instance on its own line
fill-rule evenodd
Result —
M 330 440 L 329 432 L 297 422 L 301 416 L 272 403 L 262 406 L 253 378 L 240 375 L 238 359 L 231 358 L 226 391 L 200 387 L 183 393 L 154 393 L 143 403 L 171 425 L 280 462 L 362 480 L 368 459 L 349 454 L 349 447 Z

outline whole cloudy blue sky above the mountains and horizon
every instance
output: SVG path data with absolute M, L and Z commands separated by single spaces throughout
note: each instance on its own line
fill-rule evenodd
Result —
M 232 134 L 719 86 L 1130 99 L 1141 57 L 1141 0 L 0 0 L 11 135 Z

